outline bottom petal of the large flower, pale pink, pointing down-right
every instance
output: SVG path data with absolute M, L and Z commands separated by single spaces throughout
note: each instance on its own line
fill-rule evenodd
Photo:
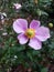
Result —
M 41 41 L 39 41 L 36 38 L 31 39 L 29 45 L 34 50 L 40 50 L 42 48 Z

